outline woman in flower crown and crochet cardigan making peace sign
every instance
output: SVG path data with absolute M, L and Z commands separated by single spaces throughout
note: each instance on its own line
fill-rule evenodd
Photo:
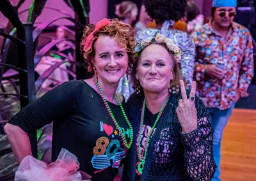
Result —
M 180 50 L 157 33 L 135 48 L 131 77 L 136 92 L 127 101 L 134 130 L 123 180 L 211 180 L 212 122 L 180 80 Z

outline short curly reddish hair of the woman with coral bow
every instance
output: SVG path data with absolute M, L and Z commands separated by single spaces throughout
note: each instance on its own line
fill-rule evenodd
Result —
M 82 54 L 84 56 L 84 59 L 86 63 L 88 64 L 88 71 L 92 72 L 93 71 L 93 62 L 92 62 L 92 57 L 95 56 L 95 48 L 94 44 L 95 41 L 97 41 L 97 38 L 104 34 L 107 36 L 110 36 L 111 38 L 115 38 L 116 41 L 118 42 L 118 45 L 120 47 L 124 48 L 128 54 L 128 62 L 129 62 L 129 67 L 132 67 L 132 62 L 134 59 L 134 47 L 136 46 L 136 40 L 134 38 L 134 31 L 130 25 L 125 24 L 121 20 L 118 20 L 117 18 L 109 20 L 109 24 L 105 25 L 102 29 L 97 31 L 93 35 L 93 43 L 92 43 L 92 48 L 88 51 L 84 51 L 84 45 L 81 44 L 81 50 Z M 89 24 L 84 28 L 84 33 L 83 33 L 83 38 L 86 39 L 86 37 L 93 32 L 95 29 L 95 24 Z

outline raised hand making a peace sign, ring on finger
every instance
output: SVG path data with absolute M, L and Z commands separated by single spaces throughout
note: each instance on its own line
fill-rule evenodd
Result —
M 187 97 L 183 80 L 180 80 L 180 91 L 182 99 L 179 99 L 176 113 L 182 127 L 182 133 L 190 133 L 197 128 L 197 112 L 195 107 L 196 82 L 192 83 L 189 98 Z

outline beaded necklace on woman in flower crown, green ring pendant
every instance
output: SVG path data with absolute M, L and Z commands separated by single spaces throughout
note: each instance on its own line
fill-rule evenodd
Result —
M 152 127 L 150 133 L 148 134 L 148 138 L 145 141 L 145 143 L 146 143 L 145 147 L 140 152 L 140 145 L 141 145 L 140 142 L 141 142 L 141 134 L 142 134 L 142 131 L 143 131 L 143 121 L 144 121 L 144 114 L 145 114 L 146 99 L 144 99 L 144 101 L 143 101 L 142 112 L 141 112 L 141 121 L 140 121 L 140 131 L 139 131 L 139 136 L 138 136 L 138 139 L 137 139 L 137 143 L 138 143 L 138 145 L 137 145 L 137 154 L 138 154 L 139 161 L 136 163 L 136 173 L 138 175 L 142 174 L 144 164 L 145 164 L 145 160 L 146 160 L 146 156 L 147 156 L 148 142 L 149 142 L 150 137 L 152 136 L 152 134 L 154 132 L 154 129 L 156 127 L 156 124 L 157 124 L 158 120 L 160 119 L 160 117 L 161 117 L 161 115 L 164 111 L 165 106 L 168 103 L 169 98 L 170 98 L 170 95 L 168 95 L 167 98 L 164 100 L 164 103 L 161 107 L 161 110 L 159 111 L 159 113 L 157 115 L 154 126 Z

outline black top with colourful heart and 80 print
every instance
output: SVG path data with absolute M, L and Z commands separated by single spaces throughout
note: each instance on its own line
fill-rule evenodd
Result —
M 124 101 L 122 105 L 126 110 Z M 131 130 L 120 106 L 109 106 L 129 142 Z M 9 123 L 31 133 L 52 121 L 52 161 L 66 148 L 77 156 L 80 170 L 91 175 L 90 180 L 115 178 L 126 150 L 102 98 L 90 85 L 83 80 L 63 83 L 26 106 Z

